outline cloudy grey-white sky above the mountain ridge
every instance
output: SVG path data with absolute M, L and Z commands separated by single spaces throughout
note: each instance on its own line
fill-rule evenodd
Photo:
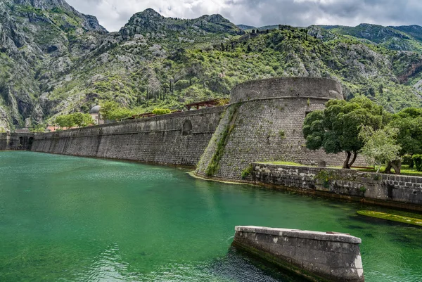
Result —
M 236 24 L 295 26 L 422 25 L 421 0 L 68 0 L 95 15 L 109 31 L 120 30 L 136 12 L 153 8 L 162 15 L 198 18 L 219 13 Z

